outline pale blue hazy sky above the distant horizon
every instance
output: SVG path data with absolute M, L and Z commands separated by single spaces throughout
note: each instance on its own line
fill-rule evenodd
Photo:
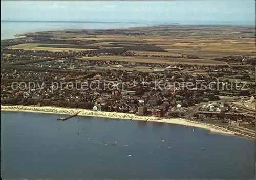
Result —
M 1 1 L 1 20 L 255 23 L 255 1 Z

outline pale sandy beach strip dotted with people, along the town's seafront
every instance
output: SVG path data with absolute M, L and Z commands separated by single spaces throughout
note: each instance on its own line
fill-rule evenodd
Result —
M 163 122 L 172 123 L 179 125 L 187 125 L 198 128 L 204 128 L 214 133 L 223 133 L 234 135 L 234 132 L 220 128 L 214 125 L 189 121 L 182 118 L 166 119 L 158 117 L 148 117 L 148 116 L 136 116 L 134 114 L 127 113 L 115 113 L 115 112 L 105 112 L 105 111 L 93 111 L 86 109 L 75 109 L 75 108 L 60 108 L 60 107 L 34 107 L 34 106 L 1 106 L 1 111 L 16 111 L 16 112 L 30 112 L 30 113 L 51 113 L 51 114 L 66 114 L 72 115 L 79 113 L 78 116 L 92 116 L 92 117 L 102 117 L 102 118 L 115 118 L 115 119 L 129 119 L 129 120 L 140 120 L 140 121 L 150 121 L 150 122 Z

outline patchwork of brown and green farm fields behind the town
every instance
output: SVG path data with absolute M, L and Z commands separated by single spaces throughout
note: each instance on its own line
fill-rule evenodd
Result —
M 126 50 L 134 52 L 135 57 L 112 59 L 167 64 L 173 64 L 173 59 L 155 59 L 152 56 L 179 56 L 176 63 L 198 65 L 222 65 L 222 62 L 207 59 L 227 56 L 255 57 L 254 27 L 160 25 L 109 30 L 47 31 L 33 35 L 40 35 L 44 40 L 29 41 L 8 48 L 49 51 L 101 50 L 101 53 L 108 53 L 109 49 L 118 51 L 119 48 L 127 48 Z M 49 38 L 46 38 L 47 36 Z M 195 58 L 182 59 L 182 55 Z M 97 59 L 111 60 L 107 57 Z

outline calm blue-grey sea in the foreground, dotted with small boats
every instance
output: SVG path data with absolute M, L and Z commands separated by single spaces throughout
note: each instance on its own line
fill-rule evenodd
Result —
M 255 144 L 245 138 L 157 122 L 96 117 L 61 122 L 59 116 L 1 112 L 3 179 L 255 177 Z

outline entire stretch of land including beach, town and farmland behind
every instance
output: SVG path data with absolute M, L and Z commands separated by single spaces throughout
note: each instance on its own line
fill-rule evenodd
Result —
M 184 41 L 173 42 L 177 52 L 165 50 L 166 44 L 151 42 L 156 35 L 148 35 L 165 37 L 162 29 L 173 30 L 88 30 L 80 39 L 79 32 L 69 30 L 4 40 L 1 110 L 62 107 L 55 113 L 158 122 L 176 118 L 255 138 L 255 52 L 209 57 L 203 50 L 195 53 L 196 42 L 183 47 L 189 44 Z M 67 33 L 75 37 L 63 38 Z M 243 38 L 255 40 L 249 33 Z

